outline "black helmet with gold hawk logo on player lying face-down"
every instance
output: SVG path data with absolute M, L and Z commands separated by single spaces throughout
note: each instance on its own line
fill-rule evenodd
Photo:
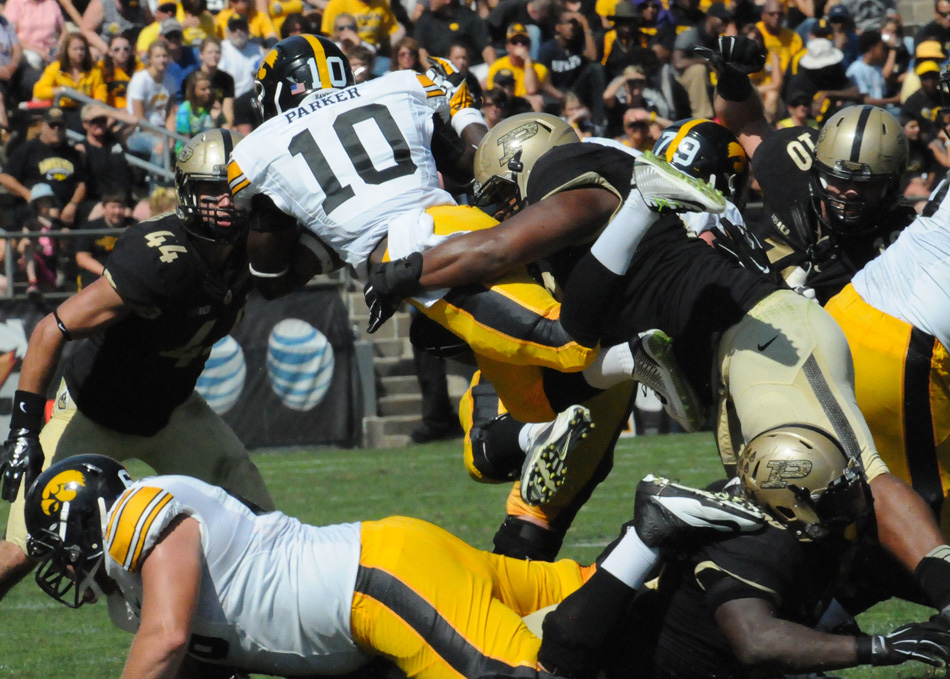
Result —
M 132 482 L 125 467 L 102 455 L 76 455 L 40 474 L 26 494 L 27 555 L 40 566 L 36 582 L 70 608 L 95 601 L 103 562 L 106 513 Z

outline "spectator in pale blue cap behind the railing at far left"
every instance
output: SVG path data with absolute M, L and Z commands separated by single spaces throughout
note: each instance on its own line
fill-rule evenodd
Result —
M 59 202 L 53 189 L 49 184 L 36 184 L 30 191 L 30 218 L 24 224 L 23 231 L 43 231 L 50 235 L 22 238 L 17 244 L 20 270 L 26 274 L 26 294 L 33 301 L 41 301 L 44 292 L 62 286 L 62 280 L 57 275 L 59 239 L 52 237 L 54 232 L 63 228 L 58 214 Z

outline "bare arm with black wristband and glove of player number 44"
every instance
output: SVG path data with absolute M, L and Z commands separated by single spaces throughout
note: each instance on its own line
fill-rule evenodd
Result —
M 130 311 L 108 279 L 100 278 L 36 325 L 13 397 L 10 434 L 0 448 L 0 495 L 4 500 L 15 500 L 20 486 L 29 488 L 42 470 L 39 435 L 46 394 L 66 342 L 89 337 Z

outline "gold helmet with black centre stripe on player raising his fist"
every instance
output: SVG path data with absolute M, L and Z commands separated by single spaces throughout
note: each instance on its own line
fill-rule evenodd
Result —
M 907 167 L 904 128 L 877 106 L 851 106 L 828 119 L 815 150 L 812 187 L 818 215 L 838 235 L 874 231 L 900 198 Z M 851 195 L 848 195 L 848 194 Z

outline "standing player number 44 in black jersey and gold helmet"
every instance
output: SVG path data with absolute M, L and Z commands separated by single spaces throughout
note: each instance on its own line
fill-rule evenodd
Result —
M 239 139 L 211 130 L 188 142 L 176 163 L 177 211 L 125 231 L 102 278 L 33 331 L 0 456 L 3 499 L 13 502 L 0 542 L 0 595 L 32 568 L 23 494 L 42 468 L 65 457 L 136 457 L 160 474 L 194 476 L 273 508 L 244 446 L 195 391 L 250 288 L 245 218 L 227 182 Z M 43 426 L 50 380 L 73 340 L 81 344 Z

